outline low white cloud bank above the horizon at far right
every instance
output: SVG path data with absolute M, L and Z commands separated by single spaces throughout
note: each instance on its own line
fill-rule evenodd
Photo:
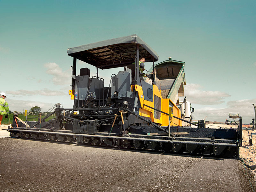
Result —
M 252 103 L 256 103 L 256 99 L 252 100 L 234 100 L 227 103 L 227 108 L 195 108 L 193 116 L 195 120 L 204 119 L 206 121 L 219 121 L 225 122 L 229 119 L 229 113 L 239 113 L 242 117 L 243 123 L 251 123 L 254 118 L 254 108 Z

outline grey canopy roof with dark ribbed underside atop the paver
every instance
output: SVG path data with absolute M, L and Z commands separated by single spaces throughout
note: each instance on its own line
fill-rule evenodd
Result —
M 158 60 L 157 53 L 136 34 L 69 48 L 68 55 L 100 69 L 117 68 L 134 62 L 137 44 L 146 62 Z

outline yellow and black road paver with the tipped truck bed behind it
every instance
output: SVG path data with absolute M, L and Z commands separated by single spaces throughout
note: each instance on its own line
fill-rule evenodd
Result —
M 73 108 L 56 104 L 49 114 L 55 118 L 40 127 L 39 122 L 13 124 L 8 129 L 12 138 L 239 157 L 241 117 L 236 129 L 205 128 L 182 118 L 178 96 L 186 84 L 184 62 L 169 59 L 155 65 L 157 53 L 136 34 L 69 48 L 68 55 L 73 57 Z M 147 74 L 142 73 L 141 58 L 152 63 Z M 91 76 L 90 68 L 81 68 L 78 74 L 77 60 L 96 67 L 97 73 Z M 104 74 L 111 77 L 105 86 L 98 69 L 111 68 L 120 71 Z M 165 96 L 161 88 L 167 90 Z

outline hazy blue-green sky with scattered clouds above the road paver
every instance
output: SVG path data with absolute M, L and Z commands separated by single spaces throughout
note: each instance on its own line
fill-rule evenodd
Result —
M 255 9 L 255 1 L 0 0 L 0 91 L 12 111 L 71 107 L 67 49 L 136 33 L 158 53 L 156 63 L 169 56 L 186 62 L 185 95 L 195 119 L 223 122 L 234 112 L 250 123 Z M 99 72 L 109 79 L 112 71 Z

